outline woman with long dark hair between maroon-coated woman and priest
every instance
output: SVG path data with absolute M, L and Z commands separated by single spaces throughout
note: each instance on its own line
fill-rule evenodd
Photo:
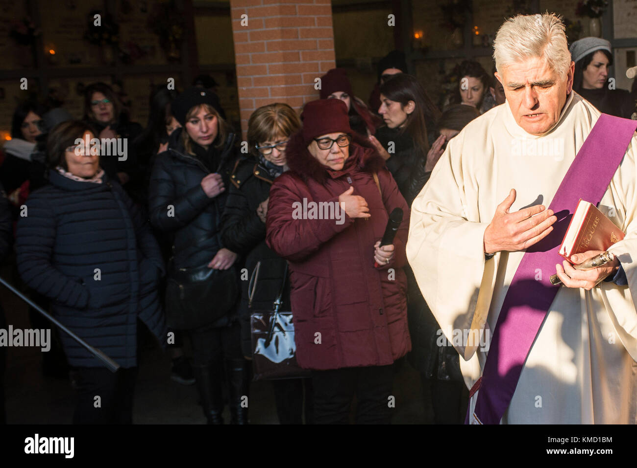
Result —
M 429 178 L 425 169 L 429 151 L 429 132 L 440 111 L 436 109 L 418 80 L 399 73 L 380 87 L 382 104 L 378 113 L 386 127 L 377 130 L 369 140 L 386 160 L 398 188 L 412 204 Z

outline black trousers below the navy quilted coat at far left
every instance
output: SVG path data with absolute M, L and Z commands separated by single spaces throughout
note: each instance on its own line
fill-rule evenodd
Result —
M 73 368 L 71 376 L 78 392 L 74 424 L 132 423 L 137 368 L 120 368 L 116 373 L 106 368 Z

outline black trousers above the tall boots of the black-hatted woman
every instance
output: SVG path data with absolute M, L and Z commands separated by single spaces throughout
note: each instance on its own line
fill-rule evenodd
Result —
M 206 326 L 188 331 L 192 343 L 192 361 L 205 366 L 221 359 L 243 359 L 241 327 L 234 322 L 228 327 Z

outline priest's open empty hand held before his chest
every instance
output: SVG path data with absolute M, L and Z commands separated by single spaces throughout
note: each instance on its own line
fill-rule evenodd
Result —
M 515 189 L 511 189 L 505 200 L 497 205 L 496 214 L 484 231 L 484 252 L 523 251 L 547 237 L 557 221 L 553 210 L 544 205 L 533 205 L 513 213 L 509 212 L 515 202 Z

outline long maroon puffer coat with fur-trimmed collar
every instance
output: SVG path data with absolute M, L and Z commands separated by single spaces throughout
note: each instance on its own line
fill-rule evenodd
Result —
M 402 268 L 409 228 L 407 203 L 374 149 L 352 142 L 345 167 L 333 171 L 293 138 L 287 160 L 290 170 L 276 178 L 270 190 L 266 242 L 289 261 L 299 365 L 318 370 L 392 364 L 412 348 Z M 338 203 L 350 184 L 353 195 L 368 202 L 368 221 L 352 219 L 344 210 L 342 224 L 334 219 L 293 218 L 294 202 L 306 198 Z M 382 238 L 388 212 L 394 208 L 404 212 L 394 239 L 396 254 L 388 265 L 375 268 L 374 244 Z

